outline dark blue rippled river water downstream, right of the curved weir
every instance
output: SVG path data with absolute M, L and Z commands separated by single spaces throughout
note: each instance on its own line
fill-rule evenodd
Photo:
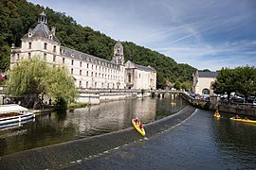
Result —
M 212 111 L 196 110 L 167 131 L 70 169 L 256 169 L 256 125 L 230 116 L 215 119 Z

